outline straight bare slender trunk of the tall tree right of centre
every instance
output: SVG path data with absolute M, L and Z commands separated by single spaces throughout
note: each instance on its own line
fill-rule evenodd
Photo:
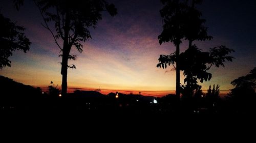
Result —
M 180 44 L 176 45 L 176 96 L 180 97 Z

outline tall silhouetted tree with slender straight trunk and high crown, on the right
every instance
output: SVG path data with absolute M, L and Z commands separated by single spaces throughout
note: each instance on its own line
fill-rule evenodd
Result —
M 176 46 L 175 55 L 176 61 L 176 95 L 180 95 L 180 43 L 181 40 L 189 41 L 189 48 L 194 40 L 210 40 L 212 37 L 207 35 L 207 28 L 203 25 L 205 19 L 200 19 L 201 12 L 195 7 L 196 4 L 201 4 L 200 0 L 189 1 L 179 0 L 161 0 L 165 5 L 160 10 L 163 17 L 164 25 L 163 32 L 158 36 L 159 43 L 172 42 Z M 165 56 L 165 55 L 160 55 Z M 168 56 L 168 55 L 167 55 Z M 160 59 L 159 58 L 159 59 Z M 173 64 L 174 63 L 169 63 Z M 158 64 L 157 67 L 166 68 L 166 64 Z

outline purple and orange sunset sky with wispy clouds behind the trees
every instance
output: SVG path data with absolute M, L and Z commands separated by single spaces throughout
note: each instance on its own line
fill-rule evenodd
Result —
M 0 2 L 1 13 L 23 25 L 26 36 L 32 42 L 27 53 L 13 52 L 9 58 L 11 67 L 0 70 L 0 75 L 34 87 L 47 87 L 53 81 L 60 88 L 59 48 L 50 32 L 40 24 L 42 18 L 38 9 L 33 2 L 25 1 L 17 12 L 12 1 Z M 68 70 L 68 87 L 85 90 L 100 87 L 103 93 L 111 90 L 134 94 L 138 91 L 154 95 L 171 93 L 175 90 L 175 70 L 173 67 L 156 68 L 160 54 L 175 51 L 173 43 L 160 45 L 158 42 L 163 24 L 159 13 L 163 7 L 160 0 L 108 2 L 116 6 L 118 14 L 111 17 L 103 13 L 97 27 L 90 31 L 92 39 L 83 43 L 83 53 L 78 53 L 76 49 L 71 51 L 78 55 L 78 59 L 69 61 L 69 64 L 76 65 L 76 69 Z M 214 39 L 194 44 L 204 51 L 220 45 L 236 51 L 231 54 L 236 59 L 225 63 L 225 68 L 213 67 L 209 70 L 212 79 L 200 83 L 202 89 L 208 89 L 210 84 L 219 84 L 221 90 L 232 89 L 232 80 L 256 67 L 256 2 L 208 0 L 198 8 L 206 19 L 208 34 Z M 183 41 L 181 52 L 187 46 L 188 41 Z M 183 79 L 181 76 L 184 84 Z

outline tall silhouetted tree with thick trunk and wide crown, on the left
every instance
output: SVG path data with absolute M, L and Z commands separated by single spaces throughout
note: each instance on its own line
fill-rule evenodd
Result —
M 19 0 L 17 0 L 19 1 Z M 68 65 L 68 60 L 76 60 L 77 55 L 71 55 L 71 48 L 74 47 L 78 52 L 82 52 L 81 42 L 91 38 L 89 27 L 95 28 L 98 20 L 102 19 L 101 12 L 108 11 L 111 16 L 117 14 L 113 4 L 103 0 L 34 0 L 44 19 L 42 24 L 49 30 L 55 43 L 60 49 L 59 56 L 61 61 L 62 84 L 61 92 L 67 93 L 67 74 L 68 68 L 75 69 L 75 65 Z M 55 31 L 51 30 L 49 23 L 53 22 Z M 58 42 L 62 42 L 59 44 Z

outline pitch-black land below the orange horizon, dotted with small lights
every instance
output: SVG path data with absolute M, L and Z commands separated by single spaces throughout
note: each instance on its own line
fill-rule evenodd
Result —
M 202 137 L 208 142 L 246 134 L 245 142 L 255 132 L 254 100 L 244 102 L 250 104 L 221 100 L 213 105 L 204 98 L 187 102 L 171 95 L 155 98 L 120 93 L 116 98 L 116 93 L 92 91 L 59 97 L 6 77 L 0 83 L 1 142 L 60 142 L 66 138 L 71 140 L 65 142 L 78 142 L 77 138 L 79 142 L 170 142 Z

